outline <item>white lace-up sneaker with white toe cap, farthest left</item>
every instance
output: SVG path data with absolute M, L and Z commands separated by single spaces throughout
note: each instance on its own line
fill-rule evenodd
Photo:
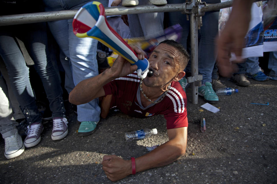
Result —
M 16 132 L 5 138 L 5 157 L 11 159 L 21 155 L 25 150 L 21 136 Z

